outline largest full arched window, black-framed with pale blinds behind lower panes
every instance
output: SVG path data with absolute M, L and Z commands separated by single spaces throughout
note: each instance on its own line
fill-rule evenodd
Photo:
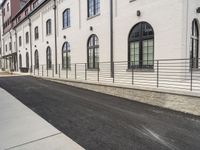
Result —
M 129 68 L 153 68 L 154 65 L 154 31 L 150 24 L 136 24 L 128 39 Z

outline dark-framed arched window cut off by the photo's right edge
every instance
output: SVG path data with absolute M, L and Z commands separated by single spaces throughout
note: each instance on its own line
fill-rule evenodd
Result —
M 199 67 L 199 29 L 198 22 L 196 19 L 192 22 L 192 50 L 191 50 L 191 59 L 192 59 L 192 68 Z

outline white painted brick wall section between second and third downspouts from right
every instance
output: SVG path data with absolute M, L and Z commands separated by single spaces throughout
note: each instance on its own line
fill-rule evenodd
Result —
M 52 51 L 52 63 L 55 63 L 55 32 L 54 32 L 54 12 L 53 1 L 50 1 L 42 9 L 31 16 L 32 22 L 32 59 L 34 62 L 34 53 L 38 50 L 39 63 L 46 64 L 46 49 L 49 46 Z M 46 21 L 51 19 L 52 32 L 50 35 L 46 35 Z M 35 40 L 34 29 L 39 27 L 39 39 Z

